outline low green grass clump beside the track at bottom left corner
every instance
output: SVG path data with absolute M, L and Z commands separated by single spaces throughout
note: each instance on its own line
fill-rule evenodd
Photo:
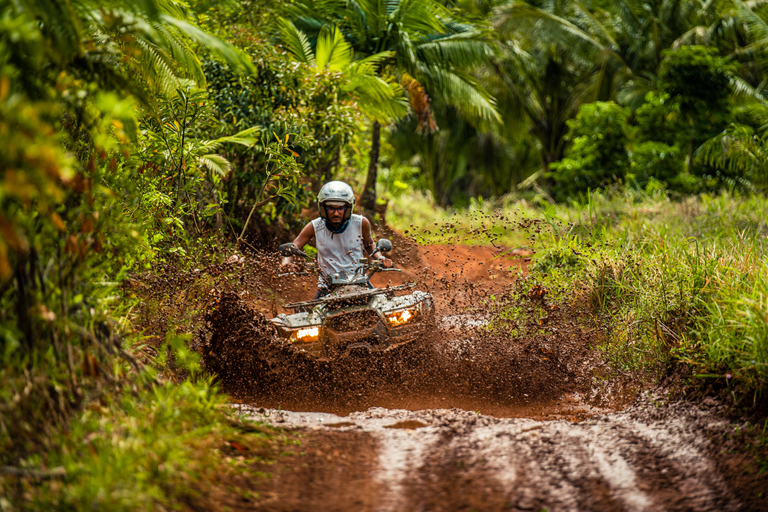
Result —
M 20 475 L 0 479 L 3 509 L 220 509 L 213 497 L 229 478 L 257 478 L 251 463 L 273 442 L 288 442 L 231 414 L 209 381 L 137 380 L 74 416 L 48 450 L 21 461 Z

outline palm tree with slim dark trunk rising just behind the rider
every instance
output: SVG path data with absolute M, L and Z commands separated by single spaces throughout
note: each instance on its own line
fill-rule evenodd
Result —
M 323 27 L 336 26 L 356 58 L 376 56 L 378 76 L 396 79 L 422 131 L 434 130 L 429 96 L 440 97 L 478 125 L 499 122 L 494 100 L 472 77 L 472 66 L 490 55 L 487 35 L 460 23 L 435 0 L 300 0 L 286 8 L 296 27 L 318 40 Z M 327 30 L 327 29 L 326 29 Z M 381 121 L 373 122 L 370 162 L 362 205 L 376 207 Z

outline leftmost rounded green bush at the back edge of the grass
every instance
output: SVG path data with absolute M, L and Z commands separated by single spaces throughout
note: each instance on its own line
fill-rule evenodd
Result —
M 613 102 L 583 105 L 568 121 L 569 156 L 553 163 L 547 174 L 556 186 L 556 198 L 584 194 L 624 180 L 629 168 L 627 111 Z

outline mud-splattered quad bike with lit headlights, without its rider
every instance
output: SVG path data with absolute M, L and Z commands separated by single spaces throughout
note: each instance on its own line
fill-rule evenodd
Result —
M 389 240 L 380 239 L 373 254 L 391 249 Z M 291 243 L 281 245 L 280 253 L 307 257 Z M 286 304 L 284 307 L 294 313 L 283 313 L 270 321 L 293 347 L 319 360 L 369 356 L 409 344 L 431 328 L 432 295 L 419 290 L 398 295 L 416 283 L 373 288 L 371 276 L 386 271 L 399 269 L 384 268 L 379 261 L 363 258 L 353 272 L 321 272 L 328 295 Z

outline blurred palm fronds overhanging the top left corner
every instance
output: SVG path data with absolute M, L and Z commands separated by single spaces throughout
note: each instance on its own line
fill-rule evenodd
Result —
M 50 72 L 66 69 L 146 103 L 145 88 L 173 95 L 188 79 L 204 87 L 196 45 L 235 68 L 253 68 L 247 56 L 200 29 L 173 0 L 15 0 L 1 6 L 39 24 Z M 34 69 L 40 63 L 23 55 L 11 58 L 28 71 L 18 75 L 20 89 L 42 94 L 40 70 Z

